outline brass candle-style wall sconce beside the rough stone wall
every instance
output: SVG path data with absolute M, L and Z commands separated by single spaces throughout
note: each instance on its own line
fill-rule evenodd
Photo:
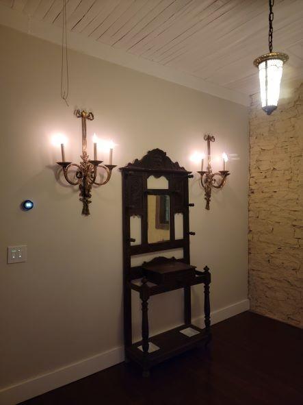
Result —
M 213 173 L 211 169 L 211 142 L 215 142 L 215 137 L 211 134 L 205 134 L 204 139 L 207 141 L 207 170 L 204 170 L 204 156 L 201 160 L 201 171 L 198 171 L 201 178 L 202 187 L 205 189 L 206 206 L 205 209 L 209 210 L 209 202 L 211 201 L 211 188 L 222 188 L 226 183 L 226 177 L 230 174 L 226 170 L 226 162 L 228 157 L 224 152 L 222 154 L 223 170 Z

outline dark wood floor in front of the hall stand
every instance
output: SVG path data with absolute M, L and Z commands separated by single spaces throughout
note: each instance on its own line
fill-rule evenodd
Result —
M 243 312 L 142 378 L 121 363 L 23 405 L 302 405 L 302 330 Z

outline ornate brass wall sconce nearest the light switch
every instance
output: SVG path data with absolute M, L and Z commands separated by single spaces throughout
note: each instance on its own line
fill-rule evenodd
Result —
M 91 195 L 92 184 L 96 184 L 96 186 L 103 186 L 104 184 L 109 182 L 109 179 L 111 178 L 111 171 L 114 169 L 114 167 L 116 167 L 116 165 L 112 164 L 112 156 L 113 156 L 112 148 L 109 151 L 109 164 L 105 165 L 101 164 L 103 161 L 97 159 L 96 142 L 94 142 L 94 160 L 89 160 L 86 144 L 86 120 L 92 121 L 94 119 L 94 115 L 92 114 L 92 112 L 86 112 L 85 110 L 83 111 L 76 110 L 75 116 L 77 116 L 77 118 L 81 118 L 82 122 L 82 155 L 81 155 L 82 162 L 80 162 L 80 164 L 66 162 L 64 144 L 62 143 L 61 144 L 62 162 L 57 162 L 57 164 L 60 164 L 60 166 L 62 167 L 66 182 L 68 182 L 72 186 L 79 185 L 80 201 L 83 203 L 82 214 L 89 215 L 90 209 L 88 207 L 88 204 L 92 202 L 90 201 L 90 198 L 92 197 Z M 70 177 L 68 177 L 68 171 L 73 167 L 77 168 L 76 171 L 77 180 L 75 181 L 70 180 Z M 96 174 L 98 167 L 105 169 L 107 173 L 107 177 L 105 181 L 102 183 L 96 182 Z

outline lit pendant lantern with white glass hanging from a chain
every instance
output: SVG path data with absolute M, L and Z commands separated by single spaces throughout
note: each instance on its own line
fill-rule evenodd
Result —
M 259 56 L 259 58 L 254 60 L 254 66 L 259 68 L 262 109 L 267 115 L 272 114 L 277 108 L 283 64 L 289 59 L 286 53 L 272 51 L 272 34 L 274 32 L 272 27 L 272 22 L 274 21 L 273 6 L 274 0 L 269 0 L 269 53 L 265 53 L 265 55 Z

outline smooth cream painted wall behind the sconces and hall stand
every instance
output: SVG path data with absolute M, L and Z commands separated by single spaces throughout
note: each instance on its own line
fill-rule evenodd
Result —
M 214 155 L 237 155 L 209 212 L 197 175 L 189 180 L 196 204 L 190 210 L 192 263 L 211 268 L 211 306 L 218 311 L 247 299 L 248 111 L 75 51 L 68 108 L 60 99 L 60 47 L 0 27 L 0 49 L 0 390 L 9 402 L 8 387 L 122 345 L 120 172 L 92 191 L 91 215 L 82 217 L 77 188 L 57 179 L 53 132 L 66 133 L 66 158 L 78 162 L 81 121 L 73 110 L 87 108 L 95 115 L 89 148 L 94 132 L 114 138 L 118 167 L 159 147 L 186 169 L 199 170 L 189 156 L 205 149 L 207 131 L 217 135 Z M 21 211 L 24 199 L 35 202 L 34 210 Z M 15 244 L 27 245 L 27 262 L 7 265 L 6 247 Z M 198 317 L 201 287 L 193 304 Z M 152 297 L 151 331 L 181 322 L 182 310 L 180 291 Z

